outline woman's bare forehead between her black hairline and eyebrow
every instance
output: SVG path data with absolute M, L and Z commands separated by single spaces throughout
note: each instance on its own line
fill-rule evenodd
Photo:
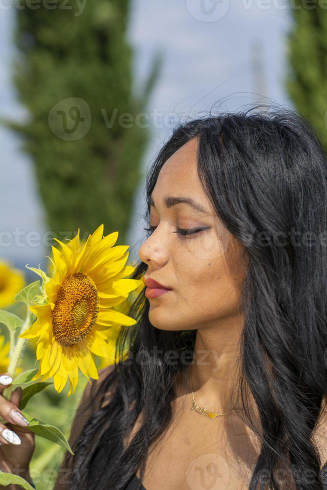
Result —
M 162 194 L 191 196 L 207 204 L 209 200 L 197 175 L 197 138 L 192 138 L 175 151 L 162 165 L 152 197 L 156 203 Z

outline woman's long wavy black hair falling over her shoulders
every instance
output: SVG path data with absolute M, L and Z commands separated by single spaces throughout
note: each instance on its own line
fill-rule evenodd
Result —
M 255 105 L 178 123 L 147 170 L 147 221 L 162 165 L 193 137 L 203 188 L 248 257 L 239 389 L 245 420 L 261 443 L 249 489 L 264 471 L 265 482 L 279 490 L 274 468 L 286 460 L 296 488 L 323 488 L 312 433 L 327 394 L 326 154 L 308 121 L 290 108 Z M 146 269 L 139 262 L 132 277 L 141 278 Z M 73 447 L 78 478 L 71 490 L 119 490 L 138 468 L 142 478 L 150 444 L 172 421 L 174 380 L 185 367 L 181 354 L 193 351 L 197 330 L 155 328 L 148 309 L 142 291 L 128 313 L 137 323 L 121 327 L 119 359 L 101 387 L 108 390 L 115 381 L 112 399 L 92 414 Z M 176 362 L 167 362 L 171 350 L 180 354 Z M 260 431 L 252 424 L 245 386 Z M 122 438 L 140 412 L 142 423 L 124 448 Z M 316 476 L 308 479 L 308 471 Z

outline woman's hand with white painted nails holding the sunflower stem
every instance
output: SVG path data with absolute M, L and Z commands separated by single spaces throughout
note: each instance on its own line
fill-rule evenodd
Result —
M 7 420 L 0 422 L 0 470 L 24 477 L 35 448 L 35 434 L 25 428 L 24 417 L 18 408 L 21 388 L 12 391 L 10 401 L 2 396 L 3 389 L 10 386 L 11 382 L 7 373 L 0 374 L 0 416 Z

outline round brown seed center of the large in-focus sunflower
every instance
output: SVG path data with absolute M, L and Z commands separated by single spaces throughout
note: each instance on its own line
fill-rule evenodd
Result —
M 80 342 L 92 330 L 98 313 L 97 289 L 82 272 L 68 275 L 62 282 L 52 311 L 54 336 L 61 345 Z

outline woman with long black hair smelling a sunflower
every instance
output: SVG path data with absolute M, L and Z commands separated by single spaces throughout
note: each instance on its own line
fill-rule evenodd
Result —
M 55 490 L 323 488 L 327 159 L 303 117 L 251 110 L 180 124 L 149 169 L 138 321 Z M 2 458 L 28 477 L 18 433 Z

